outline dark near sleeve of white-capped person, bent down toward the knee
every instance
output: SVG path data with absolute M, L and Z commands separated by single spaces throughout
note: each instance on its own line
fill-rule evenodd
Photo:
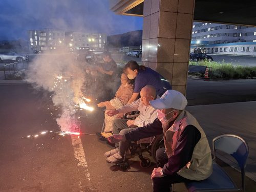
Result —
M 184 167 L 191 160 L 194 148 L 200 138 L 201 134 L 195 126 L 186 126 L 177 141 L 174 155 L 163 166 L 163 174 L 173 175 Z

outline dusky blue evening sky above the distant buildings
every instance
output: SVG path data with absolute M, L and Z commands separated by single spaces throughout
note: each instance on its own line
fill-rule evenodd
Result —
M 120 34 L 142 29 L 143 18 L 115 15 L 109 0 L 0 0 L 0 40 L 27 39 L 27 30 L 63 29 Z

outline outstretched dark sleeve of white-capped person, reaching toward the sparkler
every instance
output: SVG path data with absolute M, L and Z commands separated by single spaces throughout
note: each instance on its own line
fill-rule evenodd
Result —
M 138 127 L 131 132 L 124 134 L 126 140 L 139 140 L 147 137 L 160 135 L 163 133 L 162 123 L 157 118 L 153 123 Z

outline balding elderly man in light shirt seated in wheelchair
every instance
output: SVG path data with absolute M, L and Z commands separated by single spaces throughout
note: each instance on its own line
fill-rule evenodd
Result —
M 122 106 L 119 109 L 106 112 L 106 114 L 112 116 L 118 113 L 128 113 L 131 111 L 139 111 L 139 116 L 135 120 L 128 119 L 116 119 L 113 123 L 113 134 L 125 134 L 132 131 L 135 127 L 146 126 L 148 123 L 152 123 L 157 118 L 156 109 L 150 105 L 150 101 L 157 97 L 156 90 L 153 86 L 145 86 L 140 91 L 141 98 Z M 129 143 L 120 142 L 116 144 L 116 148 L 104 155 L 108 157 L 106 161 L 110 163 L 121 162 L 124 156 L 124 152 L 129 148 Z M 130 151 L 129 151 L 130 152 Z

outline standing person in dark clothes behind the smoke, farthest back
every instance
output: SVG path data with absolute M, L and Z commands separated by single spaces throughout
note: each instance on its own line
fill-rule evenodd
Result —
M 114 97 L 114 93 L 117 89 L 117 83 L 115 82 L 117 65 L 109 51 L 104 51 L 102 53 L 102 59 L 104 63 L 97 67 L 97 71 L 103 75 L 101 76 L 98 90 L 104 90 L 99 100 L 110 100 Z

